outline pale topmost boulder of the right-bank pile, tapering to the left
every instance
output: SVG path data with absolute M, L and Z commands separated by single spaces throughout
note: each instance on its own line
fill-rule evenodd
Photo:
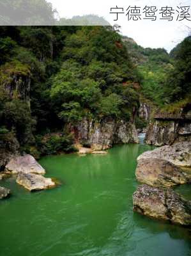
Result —
M 191 142 L 183 141 L 146 151 L 137 158 L 137 161 L 146 158 L 164 159 L 177 166 L 191 167 Z

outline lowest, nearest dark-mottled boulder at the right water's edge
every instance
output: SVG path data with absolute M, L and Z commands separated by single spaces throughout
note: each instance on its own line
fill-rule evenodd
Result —
M 191 225 L 191 202 L 184 200 L 171 189 L 164 191 L 141 185 L 133 195 L 134 211 L 151 218 L 172 223 Z

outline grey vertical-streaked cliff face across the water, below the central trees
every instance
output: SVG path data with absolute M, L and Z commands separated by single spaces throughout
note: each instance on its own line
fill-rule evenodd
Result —
M 123 120 L 104 118 L 88 120 L 84 118 L 78 125 L 70 125 L 79 143 L 91 146 L 94 150 L 105 150 L 117 143 L 138 143 L 135 125 Z

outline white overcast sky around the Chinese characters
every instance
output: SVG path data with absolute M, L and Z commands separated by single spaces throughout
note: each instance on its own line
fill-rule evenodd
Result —
M 75 15 L 95 14 L 109 21 L 111 25 L 119 24 L 122 35 L 131 37 L 137 44 L 143 47 L 165 48 L 167 51 L 179 44 L 185 36 L 188 36 L 188 28 L 191 28 L 191 21 L 176 20 L 178 12 L 177 6 L 190 6 L 191 0 L 48 0 L 56 8 L 59 17 L 72 18 Z M 124 14 L 112 14 L 111 8 L 118 6 L 123 8 Z M 128 6 L 137 6 L 142 9 L 145 6 L 156 6 L 158 9 L 157 20 L 128 20 L 126 9 Z M 159 10 L 162 7 L 172 7 L 174 9 L 173 20 L 162 20 Z M 143 18 L 143 17 L 141 17 Z M 191 18 L 190 18 L 191 19 Z

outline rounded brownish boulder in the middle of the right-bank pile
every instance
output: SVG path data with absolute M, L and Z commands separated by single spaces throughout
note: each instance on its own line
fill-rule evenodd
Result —
M 191 182 L 191 175 L 189 177 L 178 166 L 157 158 L 140 159 L 135 175 L 139 182 L 155 187 L 171 187 Z

